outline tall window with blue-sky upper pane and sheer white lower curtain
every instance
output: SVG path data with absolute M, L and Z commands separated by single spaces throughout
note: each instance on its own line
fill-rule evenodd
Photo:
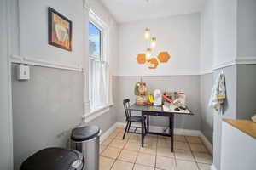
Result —
M 89 22 L 89 100 L 90 111 L 108 105 L 108 29 L 95 14 Z

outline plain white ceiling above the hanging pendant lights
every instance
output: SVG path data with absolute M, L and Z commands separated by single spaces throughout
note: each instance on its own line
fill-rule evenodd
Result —
M 200 12 L 205 0 L 101 0 L 119 23 Z

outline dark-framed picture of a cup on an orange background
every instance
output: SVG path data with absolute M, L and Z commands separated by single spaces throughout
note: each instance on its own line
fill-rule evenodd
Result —
M 48 8 L 48 36 L 49 44 L 58 48 L 72 51 L 72 22 L 65 16 Z

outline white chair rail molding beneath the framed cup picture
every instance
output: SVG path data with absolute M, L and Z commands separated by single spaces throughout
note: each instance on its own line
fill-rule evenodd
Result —
M 23 57 L 20 55 L 11 55 L 10 62 L 24 64 L 24 65 L 43 66 L 43 67 L 69 70 L 69 71 L 83 71 L 83 67 L 81 65 L 65 65 L 65 64 L 61 64 L 61 63 L 56 63 L 54 61 L 47 61 L 44 59 Z

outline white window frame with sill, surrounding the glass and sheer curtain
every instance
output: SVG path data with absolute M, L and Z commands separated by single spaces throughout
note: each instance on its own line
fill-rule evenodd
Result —
M 109 27 L 108 25 L 103 21 L 101 20 L 97 15 L 96 13 L 90 9 L 89 10 L 89 21 L 94 25 L 96 26 L 100 31 L 101 31 L 101 56 L 100 56 L 100 60 L 101 62 L 106 62 L 107 65 L 108 65 L 108 72 L 107 72 L 107 80 L 108 80 L 108 91 L 107 91 L 107 95 L 108 95 L 108 104 L 106 105 L 102 105 L 100 107 L 97 107 L 97 108 L 94 108 L 94 109 L 91 109 L 90 108 L 90 111 L 85 113 L 85 117 L 87 117 L 85 119 L 85 122 L 90 122 L 91 120 L 93 120 L 94 118 L 96 118 L 97 116 L 101 116 L 102 114 L 104 114 L 105 112 L 109 111 L 109 107 L 112 106 L 113 104 L 110 104 L 110 93 L 109 93 L 109 87 L 110 87 L 110 77 L 109 77 L 109 57 L 108 57 L 108 47 L 109 47 L 109 42 L 108 42 L 108 37 L 109 37 Z M 92 58 L 89 56 L 89 59 L 94 59 L 96 60 L 95 58 Z M 90 77 L 88 75 L 88 77 Z M 88 81 L 90 81 L 88 79 Z M 88 93 L 90 93 L 90 88 L 88 88 Z

